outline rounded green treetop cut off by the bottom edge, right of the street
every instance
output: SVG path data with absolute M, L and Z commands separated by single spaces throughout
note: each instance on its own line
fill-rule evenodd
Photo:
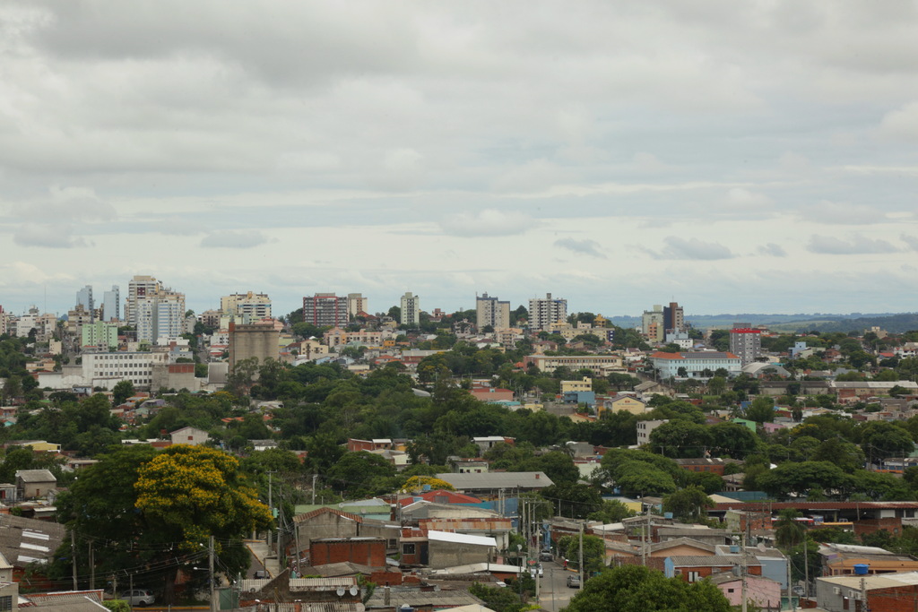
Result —
M 729 612 L 730 602 L 711 582 L 666 578 L 642 565 L 606 570 L 584 584 L 566 612 Z

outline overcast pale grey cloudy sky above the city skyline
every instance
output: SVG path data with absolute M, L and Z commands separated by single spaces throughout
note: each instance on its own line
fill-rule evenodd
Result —
M 0 305 L 913 311 L 916 6 L 6 0 Z

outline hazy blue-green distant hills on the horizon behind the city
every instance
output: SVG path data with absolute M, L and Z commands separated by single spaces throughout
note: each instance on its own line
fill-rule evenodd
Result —
M 621 328 L 636 328 L 641 317 L 608 317 Z M 890 333 L 902 333 L 918 329 L 918 313 L 860 313 L 848 315 L 812 313 L 795 315 L 768 315 L 744 313 L 738 315 L 688 315 L 686 320 L 697 329 L 732 328 L 733 323 L 764 325 L 775 331 L 864 331 L 872 327 L 886 329 Z

